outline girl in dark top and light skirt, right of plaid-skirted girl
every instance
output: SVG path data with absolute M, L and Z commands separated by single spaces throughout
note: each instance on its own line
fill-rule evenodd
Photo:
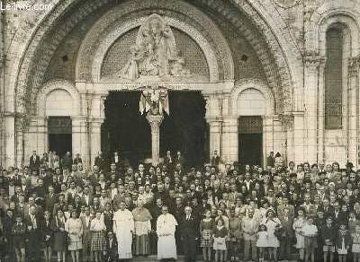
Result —
M 213 249 L 215 250 L 215 262 L 225 261 L 226 237 L 228 229 L 224 225 L 222 218 L 218 219 L 216 227 L 213 231 Z

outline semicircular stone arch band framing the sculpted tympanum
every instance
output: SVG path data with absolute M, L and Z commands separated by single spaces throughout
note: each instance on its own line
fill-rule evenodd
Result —
M 142 9 L 150 5 L 154 13 L 161 15 L 170 27 L 184 31 L 200 48 L 206 57 L 211 81 L 234 79 L 234 65 L 226 39 L 211 19 L 190 4 L 170 0 L 153 6 L 153 1 L 134 1 L 134 4 L 120 4 L 105 13 L 86 34 L 76 61 L 76 80 L 98 81 L 101 62 L 112 43 L 127 31 L 139 27 L 148 17 Z M 126 16 L 125 16 L 126 15 Z M 87 54 L 94 53 L 95 57 Z M 90 77 L 89 77 L 90 75 Z

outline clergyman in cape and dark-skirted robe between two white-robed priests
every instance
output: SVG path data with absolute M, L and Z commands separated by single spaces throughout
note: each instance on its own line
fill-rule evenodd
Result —
M 132 211 L 132 215 L 135 222 L 135 255 L 146 257 L 149 254 L 148 233 L 151 231 L 152 216 L 142 200 L 138 201 L 138 207 Z

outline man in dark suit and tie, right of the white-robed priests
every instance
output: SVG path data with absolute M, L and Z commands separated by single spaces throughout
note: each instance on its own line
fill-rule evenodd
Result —
M 196 259 L 196 240 L 198 231 L 196 230 L 196 218 L 193 217 L 193 209 L 190 206 L 185 207 L 185 215 L 180 223 L 181 238 L 184 243 L 184 261 L 194 262 Z

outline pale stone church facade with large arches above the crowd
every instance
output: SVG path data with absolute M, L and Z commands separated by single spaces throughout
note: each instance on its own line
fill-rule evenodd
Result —
M 241 158 L 241 130 L 259 128 L 262 162 L 358 166 L 359 1 L 42 1 L 51 8 L 1 13 L 2 166 L 49 151 L 54 128 L 94 162 L 109 92 L 153 85 L 202 93 L 209 152 L 225 162 Z M 119 76 L 153 14 L 196 77 Z

